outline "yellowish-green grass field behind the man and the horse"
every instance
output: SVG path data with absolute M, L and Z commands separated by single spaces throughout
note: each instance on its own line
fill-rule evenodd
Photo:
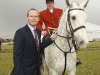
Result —
M 13 68 L 12 45 L 3 45 L 0 52 L 0 75 L 9 75 Z M 82 65 L 76 75 L 100 75 L 100 42 L 90 42 L 85 50 L 78 50 Z

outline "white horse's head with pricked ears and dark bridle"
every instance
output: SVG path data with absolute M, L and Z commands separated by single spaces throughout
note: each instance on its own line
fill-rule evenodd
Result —
M 73 39 L 75 39 L 77 47 L 86 48 L 88 38 L 84 25 L 87 15 L 84 12 L 84 8 L 87 6 L 89 0 L 86 0 L 82 4 L 71 3 L 69 0 L 65 1 L 69 7 L 67 15 L 67 31 L 73 37 Z

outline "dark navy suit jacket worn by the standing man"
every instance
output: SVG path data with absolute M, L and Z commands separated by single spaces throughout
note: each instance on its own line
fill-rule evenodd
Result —
M 41 43 L 41 32 L 36 29 L 39 39 L 39 48 L 36 50 L 35 39 L 28 25 L 18 29 L 14 36 L 14 68 L 10 75 L 40 75 L 40 51 L 50 45 L 52 40 Z

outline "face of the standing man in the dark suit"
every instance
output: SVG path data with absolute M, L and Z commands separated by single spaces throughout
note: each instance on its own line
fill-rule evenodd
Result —
M 31 26 L 36 26 L 39 21 L 39 14 L 36 10 L 30 10 L 27 16 L 27 21 Z

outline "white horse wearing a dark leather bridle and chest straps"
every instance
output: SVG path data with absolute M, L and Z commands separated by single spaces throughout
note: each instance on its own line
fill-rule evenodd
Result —
M 89 0 L 82 4 L 65 1 L 68 7 L 59 21 L 58 37 L 44 51 L 42 75 L 75 75 L 77 57 L 74 45 L 86 48 L 88 44 L 84 26 L 87 15 L 84 8 Z

